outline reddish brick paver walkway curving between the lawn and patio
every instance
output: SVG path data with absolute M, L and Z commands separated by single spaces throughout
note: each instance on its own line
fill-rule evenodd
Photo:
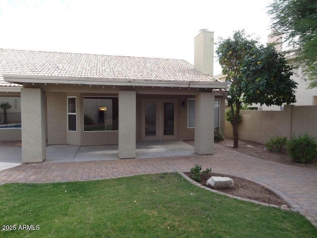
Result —
M 317 226 L 317 170 L 254 158 L 217 144 L 215 154 L 208 156 L 23 164 L 0 171 L 0 183 L 79 181 L 185 172 L 195 164 L 268 187 Z

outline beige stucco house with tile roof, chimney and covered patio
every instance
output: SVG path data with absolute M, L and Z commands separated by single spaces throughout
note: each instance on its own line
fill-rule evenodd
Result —
M 47 143 L 118 144 L 122 159 L 135 158 L 136 142 L 195 139 L 197 154 L 213 154 L 227 84 L 212 76 L 211 39 L 207 30 L 195 38 L 194 65 L 0 49 L 4 81 L 23 84 L 22 162 L 43 162 Z

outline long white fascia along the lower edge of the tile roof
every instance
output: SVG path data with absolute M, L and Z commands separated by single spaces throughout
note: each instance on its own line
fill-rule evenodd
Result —
M 227 88 L 226 82 L 197 82 L 197 81 L 153 81 L 131 80 L 124 78 L 92 78 L 92 77 L 65 77 L 39 76 L 21 74 L 2 74 L 5 81 L 17 83 L 49 83 L 49 84 L 82 84 L 108 86 L 154 86 L 154 87 L 183 87 L 183 88 Z

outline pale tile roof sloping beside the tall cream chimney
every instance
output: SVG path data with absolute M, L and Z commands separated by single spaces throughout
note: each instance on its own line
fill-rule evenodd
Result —
M 157 82 L 217 82 L 185 60 L 0 49 L 0 74 Z

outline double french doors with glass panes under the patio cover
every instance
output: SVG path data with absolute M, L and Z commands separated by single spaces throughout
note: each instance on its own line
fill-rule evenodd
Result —
M 142 140 L 177 139 L 177 99 L 142 99 Z

